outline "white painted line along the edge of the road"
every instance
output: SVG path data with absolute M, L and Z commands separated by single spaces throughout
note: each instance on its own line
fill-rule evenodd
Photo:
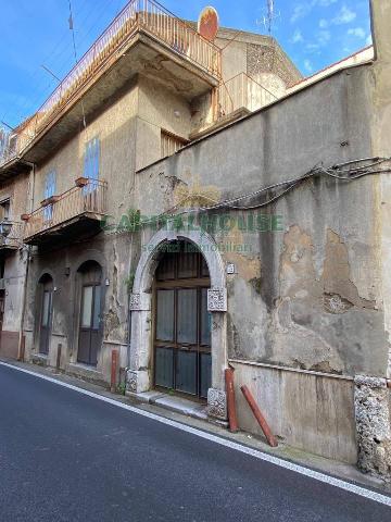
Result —
M 294 464 L 283 459 L 279 459 L 278 457 L 274 457 L 268 453 L 264 453 L 257 449 L 249 448 L 247 446 L 242 446 L 241 444 L 234 443 L 232 440 L 227 440 L 225 438 L 220 438 L 217 435 L 212 435 L 207 432 L 202 432 L 195 427 L 187 426 L 186 424 L 181 424 L 177 421 L 172 421 L 171 419 L 165 419 L 164 417 L 156 415 L 155 413 L 150 413 L 144 410 L 140 410 L 139 408 L 135 408 L 129 405 L 124 405 L 123 402 L 118 402 L 117 400 L 110 399 L 109 397 L 104 397 L 99 394 L 94 394 L 93 391 L 88 391 L 87 389 L 79 388 L 74 386 L 73 384 L 63 383 L 52 377 L 48 377 L 47 375 L 41 375 L 36 372 L 31 372 L 30 370 L 25 370 L 24 368 L 15 366 L 13 364 L 8 364 L 7 362 L 1 362 L 0 365 L 11 368 L 12 370 L 17 370 L 18 372 L 27 373 L 29 375 L 34 375 L 35 377 L 42 378 L 43 381 L 49 381 L 50 383 L 54 383 L 59 386 L 63 386 L 64 388 L 73 389 L 74 391 L 78 391 L 79 394 L 87 395 L 88 397 L 93 397 L 94 399 L 103 400 L 104 402 L 109 402 L 110 405 L 116 406 L 117 408 L 122 408 L 127 411 L 131 411 L 133 413 L 137 413 L 138 415 L 147 417 L 148 419 L 152 419 L 154 421 L 161 422 L 162 424 L 167 424 L 168 426 L 175 427 L 177 430 L 181 430 L 182 432 L 191 433 L 201 438 L 205 438 L 211 440 L 215 444 L 219 444 L 220 446 L 225 446 L 226 448 L 235 449 L 236 451 L 241 451 L 242 453 L 250 455 L 256 459 L 264 460 L 265 462 L 270 462 L 272 464 L 279 465 L 280 468 L 285 468 L 286 470 L 294 471 L 295 473 L 300 473 L 301 475 L 308 476 L 314 478 L 315 481 L 323 482 L 325 484 L 330 484 L 331 486 L 339 487 L 340 489 L 344 489 L 345 492 L 353 493 L 355 495 L 360 495 L 361 497 L 367 498 L 369 500 L 374 500 L 379 504 L 383 504 L 386 506 L 391 506 L 391 497 L 386 495 L 381 495 L 380 493 L 373 492 L 371 489 L 366 489 L 361 486 L 356 486 L 350 482 L 344 482 L 340 478 L 336 478 L 333 476 L 325 475 L 318 471 L 311 470 L 308 468 L 303 468 L 302 465 Z

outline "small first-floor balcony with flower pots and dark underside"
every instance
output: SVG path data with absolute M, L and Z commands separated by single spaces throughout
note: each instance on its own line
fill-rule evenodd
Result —
M 99 231 L 106 214 L 108 184 L 87 178 L 76 182 L 75 187 L 52 196 L 31 214 L 23 215 L 25 244 L 39 246 L 59 239 L 72 243 Z

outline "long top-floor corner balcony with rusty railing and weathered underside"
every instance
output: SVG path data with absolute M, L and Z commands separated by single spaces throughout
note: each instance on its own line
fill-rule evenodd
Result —
M 186 85 L 181 90 L 191 99 L 218 85 L 220 50 L 153 0 L 130 0 L 43 105 L 20 127 L 16 142 L 15 137 L 12 147 L 1 147 L 0 142 L 0 167 L 22 154 L 27 161 L 42 159 L 46 150 L 77 128 L 81 114 L 93 113 L 136 74 L 161 75 L 162 82 L 173 86 Z M 46 139 L 42 150 L 36 148 L 26 156 L 31 144 L 65 114 L 67 120 Z

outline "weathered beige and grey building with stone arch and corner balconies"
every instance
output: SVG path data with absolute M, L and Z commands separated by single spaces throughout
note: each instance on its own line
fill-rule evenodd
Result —
M 223 420 L 230 364 L 241 427 L 248 384 L 288 444 L 390 474 L 391 13 L 376 60 L 295 86 L 275 40 L 136 5 L 0 166 L 34 165 L 26 358 L 108 383 L 117 349 L 129 394 Z

